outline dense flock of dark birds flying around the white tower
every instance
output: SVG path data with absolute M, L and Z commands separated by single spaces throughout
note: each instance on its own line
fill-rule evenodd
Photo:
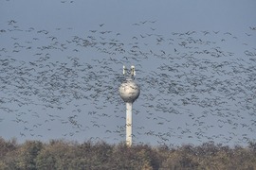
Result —
M 24 139 L 124 140 L 118 89 L 122 64 L 130 63 L 141 88 L 136 143 L 256 139 L 256 48 L 241 42 L 241 36 L 255 39 L 256 27 L 243 35 L 161 34 L 157 21 L 131 24 L 129 35 L 107 24 L 82 35 L 72 27 L 22 28 L 14 20 L 3 27 L 0 37 L 9 42 L 0 47 L 1 133 L 5 125 Z

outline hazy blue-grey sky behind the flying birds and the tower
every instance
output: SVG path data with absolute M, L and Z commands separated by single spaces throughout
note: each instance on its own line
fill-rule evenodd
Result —
M 2 0 L 0 135 L 125 140 L 122 63 L 137 68 L 134 142 L 256 139 L 256 2 Z

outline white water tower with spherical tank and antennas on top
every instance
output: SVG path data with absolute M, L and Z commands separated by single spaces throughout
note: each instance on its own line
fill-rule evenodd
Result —
M 126 76 L 126 80 L 119 87 L 119 94 L 122 100 L 126 103 L 126 144 L 132 145 L 132 110 L 133 103 L 137 99 L 140 89 L 134 81 L 136 76 L 135 66 L 131 66 L 130 75 L 127 73 L 127 69 L 123 66 L 123 75 Z

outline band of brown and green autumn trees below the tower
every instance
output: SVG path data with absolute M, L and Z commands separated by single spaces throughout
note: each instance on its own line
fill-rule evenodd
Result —
M 256 169 L 256 144 L 205 143 L 179 147 L 0 138 L 0 169 Z

